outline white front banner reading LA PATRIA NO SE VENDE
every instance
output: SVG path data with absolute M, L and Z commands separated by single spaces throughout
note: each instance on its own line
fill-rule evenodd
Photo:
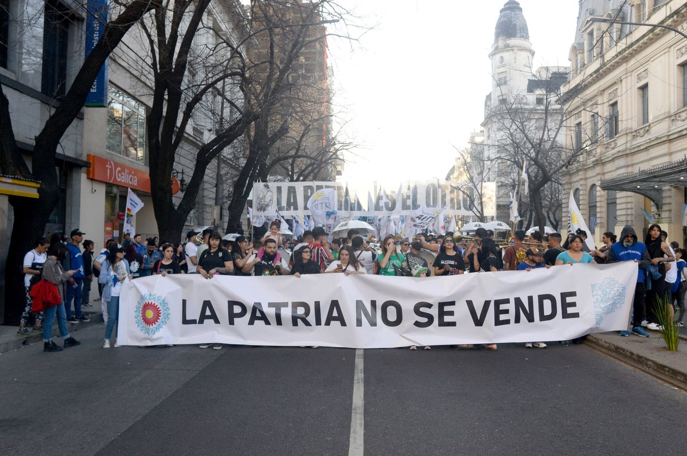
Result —
M 637 264 L 451 277 L 140 277 L 120 297 L 123 345 L 402 347 L 556 341 L 625 330 Z

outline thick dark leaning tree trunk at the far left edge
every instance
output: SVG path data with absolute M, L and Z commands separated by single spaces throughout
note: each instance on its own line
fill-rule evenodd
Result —
M 17 321 L 23 308 L 22 300 L 17 299 L 24 294 L 21 270 L 23 255 L 45 233 L 49 215 L 60 198 L 55 170 L 60 141 L 84 106 L 93 81 L 106 58 L 120 44 L 126 32 L 157 5 L 159 0 L 120 1 L 113 5 L 111 16 L 114 19 L 104 26 L 104 33 L 79 67 L 65 95 L 54 100 L 50 115 L 35 138 L 30 167 L 16 144 L 10 116 L 12 106 L 0 84 L 0 168 L 4 174 L 41 182 L 41 187 L 38 188 L 39 198 L 9 198 L 14 210 L 14 222 L 5 273 L 5 318 L 10 323 Z M 80 7 L 87 10 L 85 2 Z

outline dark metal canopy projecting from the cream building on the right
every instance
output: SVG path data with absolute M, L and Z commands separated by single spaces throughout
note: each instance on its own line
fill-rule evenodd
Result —
M 661 188 L 679 185 L 687 186 L 687 158 L 602 179 L 599 186 L 601 190 L 617 190 L 644 195 L 653 201 L 658 209 L 661 209 Z

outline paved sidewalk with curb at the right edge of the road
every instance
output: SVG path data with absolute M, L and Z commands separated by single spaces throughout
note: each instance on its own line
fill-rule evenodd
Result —
M 660 332 L 648 330 L 649 337 L 618 332 L 589 334 L 585 343 L 612 358 L 627 363 L 646 374 L 687 391 L 687 328 L 680 331 L 677 352 L 666 350 Z

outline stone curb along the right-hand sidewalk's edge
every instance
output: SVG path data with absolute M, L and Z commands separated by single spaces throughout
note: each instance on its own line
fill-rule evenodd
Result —
M 683 391 L 687 391 L 687 372 L 682 372 L 662 363 L 657 363 L 646 356 L 642 356 L 626 348 L 620 347 L 619 345 L 595 337 L 594 334 L 589 334 L 585 344 L 598 352 L 611 356 L 611 358 L 629 364 L 646 374 L 669 383 Z

